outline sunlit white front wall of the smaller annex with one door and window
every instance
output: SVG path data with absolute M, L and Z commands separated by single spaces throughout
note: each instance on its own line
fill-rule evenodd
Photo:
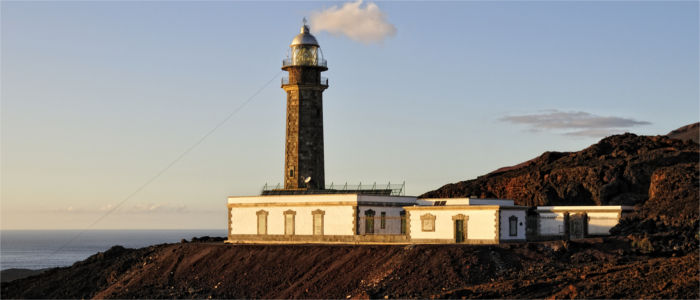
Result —
M 463 214 L 469 216 L 467 221 L 467 240 L 494 240 L 496 239 L 496 211 L 493 209 L 464 209 L 464 208 L 423 208 L 411 209 L 410 228 L 411 239 L 449 239 L 454 240 L 453 216 Z M 435 231 L 423 231 L 421 216 L 432 214 L 435 216 Z

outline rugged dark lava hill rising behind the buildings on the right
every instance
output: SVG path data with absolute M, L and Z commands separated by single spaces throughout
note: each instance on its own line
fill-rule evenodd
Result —
M 615 135 L 579 152 L 546 152 L 517 166 L 447 184 L 421 197 L 494 197 L 520 205 L 636 205 L 655 172 L 698 164 L 698 144 L 666 136 Z M 697 207 L 696 207 L 697 208 Z

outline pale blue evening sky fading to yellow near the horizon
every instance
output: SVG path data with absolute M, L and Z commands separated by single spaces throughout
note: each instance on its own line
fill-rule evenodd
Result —
M 700 119 L 697 1 L 0 5 L 2 229 L 225 228 L 282 181 L 303 17 L 327 184 L 419 195 Z

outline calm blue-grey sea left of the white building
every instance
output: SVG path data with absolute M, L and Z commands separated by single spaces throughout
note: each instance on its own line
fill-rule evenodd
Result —
M 141 248 L 192 237 L 225 237 L 210 230 L 0 230 L 0 270 L 65 267 L 112 246 Z M 68 243 L 71 239 L 74 241 Z

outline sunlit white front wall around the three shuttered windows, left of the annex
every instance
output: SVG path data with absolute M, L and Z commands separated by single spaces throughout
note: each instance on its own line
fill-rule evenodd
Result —
M 260 206 L 234 207 L 231 210 L 231 234 L 257 234 L 257 212 L 265 210 L 267 217 L 267 234 L 284 234 L 284 212 L 296 212 L 294 220 L 295 235 L 313 234 L 312 211 L 317 209 L 325 212 L 323 216 L 324 235 L 353 235 L 353 206 Z

